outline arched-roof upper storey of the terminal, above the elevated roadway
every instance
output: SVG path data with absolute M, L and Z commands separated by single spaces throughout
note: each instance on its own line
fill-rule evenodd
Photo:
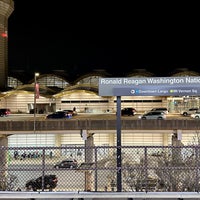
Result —
M 144 70 L 129 74 L 128 78 L 151 77 Z M 146 75 L 146 76 L 145 76 Z M 198 76 L 198 73 L 182 71 L 173 75 Z M 172 77 L 173 77 L 172 76 Z M 44 113 L 56 110 L 76 108 L 78 113 L 116 112 L 116 96 L 99 95 L 99 79 L 109 78 L 104 71 L 94 71 L 70 83 L 64 77 L 55 74 L 43 74 L 37 77 L 39 98 L 36 110 Z M 15 77 L 8 77 L 9 91 L 2 92 L 0 107 L 9 108 L 12 113 L 30 113 L 34 108 L 34 80 L 23 84 Z M 138 112 L 153 107 L 167 107 L 171 113 L 179 113 L 191 107 L 199 107 L 198 96 L 122 96 L 121 107 L 134 107 Z

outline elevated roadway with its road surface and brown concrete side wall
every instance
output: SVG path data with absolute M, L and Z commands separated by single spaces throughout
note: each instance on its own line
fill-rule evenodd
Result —
M 71 119 L 45 119 L 44 115 L 38 115 L 35 120 L 36 130 L 64 131 L 64 130 L 115 130 L 116 115 L 114 114 L 90 114 L 79 115 Z M 200 120 L 169 115 L 166 120 L 141 120 L 138 116 L 121 117 L 122 130 L 198 130 Z M 32 115 L 9 116 L 0 119 L 0 134 L 12 134 L 13 132 L 30 132 L 34 130 Z

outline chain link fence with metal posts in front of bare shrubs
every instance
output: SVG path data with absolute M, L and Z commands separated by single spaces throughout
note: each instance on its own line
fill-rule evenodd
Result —
M 0 148 L 1 191 L 199 192 L 199 146 Z

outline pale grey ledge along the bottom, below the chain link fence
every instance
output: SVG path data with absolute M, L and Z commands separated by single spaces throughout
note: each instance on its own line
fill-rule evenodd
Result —
M 0 192 L 0 199 L 199 199 L 198 192 Z

